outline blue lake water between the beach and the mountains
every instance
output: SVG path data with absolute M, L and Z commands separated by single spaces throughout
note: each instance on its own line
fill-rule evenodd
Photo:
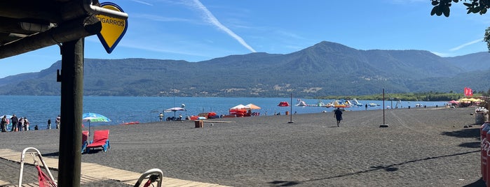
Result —
M 229 114 L 229 108 L 239 104 L 247 105 L 253 103 L 261 107 L 261 115 L 272 115 L 276 112 L 285 114 L 290 111 L 291 107 L 278 107 L 281 101 L 287 101 L 292 104 L 292 112 L 298 114 L 331 112 L 333 108 L 327 107 L 299 107 L 298 98 L 185 98 L 185 97 L 103 97 L 103 96 L 85 96 L 83 98 L 83 113 L 93 112 L 102 114 L 111 119 L 108 123 L 92 123 L 90 126 L 122 124 L 130 121 L 139 121 L 147 123 L 158 121 L 158 114 L 170 107 L 182 107 L 185 105 L 186 111 L 175 112 L 175 115 L 182 116 L 197 115 L 200 112 L 216 112 L 220 114 Z M 0 96 L 0 114 L 16 114 L 18 117 L 27 117 L 31 122 L 31 128 L 38 125 L 40 129 L 46 129 L 48 119 L 52 121 L 52 127 L 55 126 L 55 118 L 60 114 L 60 96 Z M 307 104 L 316 104 L 316 99 L 302 99 Z M 332 100 L 323 100 L 328 103 Z M 383 109 L 382 100 L 359 100 L 360 103 L 376 103 L 380 106 L 368 107 L 368 110 Z M 433 107 L 438 105 L 444 106 L 447 102 L 418 102 L 402 101 L 398 107 L 415 107 L 416 104 Z M 385 101 L 385 106 L 395 107 L 396 101 Z M 365 107 L 349 107 L 346 110 L 365 110 Z M 163 112 L 165 117 L 173 117 L 174 112 Z

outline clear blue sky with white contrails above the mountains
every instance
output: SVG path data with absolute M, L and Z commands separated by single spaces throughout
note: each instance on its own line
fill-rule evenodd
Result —
M 103 1 L 101 1 L 103 2 Z M 441 57 L 486 51 L 490 15 L 430 16 L 428 0 L 112 0 L 130 16 L 111 54 L 97 36 L 85 57 L 204 61 L 232 54 L 287 54 L 321 41 L 358 50 L 428 50 Z M 0 77 L 37 72 L 61 60 L 60 48 L 0 59 Z

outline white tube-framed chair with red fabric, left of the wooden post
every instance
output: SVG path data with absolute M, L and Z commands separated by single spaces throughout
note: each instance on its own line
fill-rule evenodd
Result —
M 28 152 L 30 149 L 34 149 L 34 151 Z M 53 177 L 53 174 L 49 171 L 48 165 L 43 160 L 43 156 L 41 156 L 41 152 L 37 150 L 34 147 L 27 147 L 22 151 L 22 154 L 20 155 L 20 174 L 19 174 L 19 186 L 22 186 L 22 172 L 24 172 L 24 163 L 25 163 L 25 155 L 30 155 L 34 159 L 34 166 L 37 169 L 38 176 L 37 179 L 39 181 L 39 187 L 56 187 L 55 183 L 55 177 Z M 39 158 L 39 160 L 36 158 L 36 156 Z M 43 164 L 44 169 L 46 172 L 48 172 L 49 176 L 46 175 L 42 170 L 41 167 L 39 166 L 39 161 Z

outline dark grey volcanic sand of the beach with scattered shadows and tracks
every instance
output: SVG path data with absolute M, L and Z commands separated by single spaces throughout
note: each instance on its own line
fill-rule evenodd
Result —
M 463 128 L 475 123 L 471 113 L 386 110 L 388 128 L 379 128 L 383 110 L 344 112 L 340 127 L 332 112 L 297 114 L 294 123 L 283 115 L 216 119 L 234 122 L 204 128 L 192 121 L 97 126 L 91 130 L 111 130 L 111 149 L 82 161 L 228 186 L 482 186 L 479 126 Z M 36 147 L 57 158 L 58 132 L 0 133 L 0 149 Z M 0 179 L 16 184 L 18 164 L 0 164 Z

